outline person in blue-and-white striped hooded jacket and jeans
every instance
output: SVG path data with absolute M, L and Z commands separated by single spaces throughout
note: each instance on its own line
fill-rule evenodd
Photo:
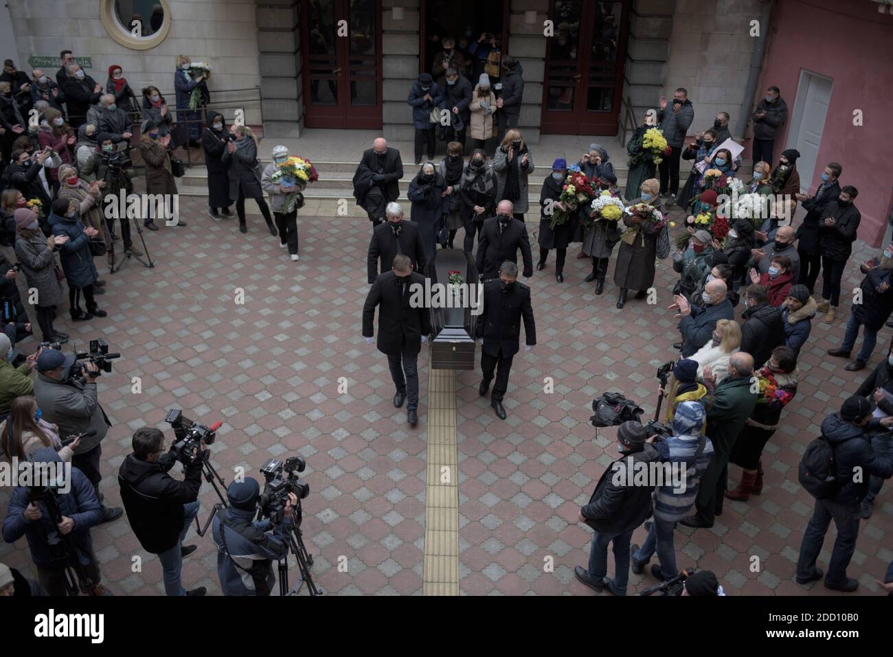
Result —
M 648 528 L 648 536 L 641 547 L 635 544 L 630 547 L 632 571 L 637 575 L 655 552 L 660 561 L 660 565 L 651 567 L 655 578 L 667 581 L 679 574 L 673 531 L 676 523 L 694 506 L 701 477 L 714 458 L 714 445 L 702 435 L 704 422 L 704 406 L 697 402 L 682 402 L 676 406 L 672 436 L 655 444 L 660 460 L 684 472 L 685 479 L 681 487 L 674 486 L 672 481 L 664 481 L 662 486 L 655 488 L 655 517 Z

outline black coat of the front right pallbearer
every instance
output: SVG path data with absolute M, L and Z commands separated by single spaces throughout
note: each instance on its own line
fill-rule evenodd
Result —
M 491 356 L 513 356 L 521 349 L 521 320 L 524 336 L 530 346 L 537 344 L 537 326 L 530 305 L 530 287 L 515 282 L 503 292 L 501 280 L 484 283 L 482 309 L 477 323 L 477 337 L 484 338 L 484 353 Z

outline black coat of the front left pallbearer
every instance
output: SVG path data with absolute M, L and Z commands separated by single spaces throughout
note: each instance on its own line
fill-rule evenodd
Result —
M 366 296 L 363 305 L 363 337 L 372 337 L 372 320 L 375 317 L 375 306 L 379 308 L 379 339 L 381 353 L 394 355 L 400 353 L 405 339 L 409 353 L 421 351 L 421 337 L 431 332 L 430 310 L 421 307 L 413 308 L 410 301 L 413 297 L 413 285 L 425 287 L 425 277 L 413 271 L 406 285 L 405 294 L 400 296 L 400 285 L 393 271 L 380 274 Z M 423 299 L 423 297 L 422 297 Z

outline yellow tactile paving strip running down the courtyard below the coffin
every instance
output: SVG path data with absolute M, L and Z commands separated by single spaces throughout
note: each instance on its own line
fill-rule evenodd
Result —
M 459 453 L 453 370 L 428 376 L 424 595 L 459 595 Z M 444 470 L 446 468 L 446 470 Z

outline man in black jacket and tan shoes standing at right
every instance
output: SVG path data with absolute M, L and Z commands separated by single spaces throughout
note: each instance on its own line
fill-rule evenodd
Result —
M 847 268 L 849 255 L 853 253 L 856 231 L 862 220 L 862 213 L 856 210 L 853 201 L 859 192 L 847 185 L 840 190 L 836 201 L 831 201 L 822 212 L 819 222 L 819 247 L 822 250 L 822 301 L 815 306 L 819 312 L 826 312 L 826 324 L 834 321 L 840 303 L 840 280 Z

